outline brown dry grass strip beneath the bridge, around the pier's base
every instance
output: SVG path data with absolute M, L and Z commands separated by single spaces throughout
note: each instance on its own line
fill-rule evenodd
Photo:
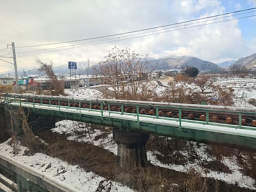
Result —
M 49 145 L 39 147 L 39 151 L 60 158 L 72 165 L 79 165 L 86 171 L 92 171 L 99 176 L 111 179 L 111 181 L 121 182 L 130 188 L 140 192 L 145 191 L 251 191 L 241 189 L 237 186 L 226 184 L 215 179 L 201 177 L 204 175 L 190 170 L 189 173 L 176 172 L 162 167 L 149 164 L 147 168 L 139 168 L 131 171 L 117 170 L 117 157 L 98 146 L 91 143 L 81 143 L 66 140 L 65 137 L 51 131 L 37 133 Z M 152 138 L 151 138 L 152 139 Z M 152 139 L 154 140 L 154 139 Z M 162 138 L 164 140 L 164 138 Z M 168 143 L 165 139 L 165 142 Z M 177 141 L 177 144 L 179 142 Z M 180 141 L 180 143 L 183 143 Z M 177 150 L 175 140 L 169 141 L 172 150 Z M 153 145 L 151 143 L 147 147 Z M 161 148 L 160 143 L 156 144 Z M 185 147 L 186 145 L 183 145 Z M 162 148 L 166 148 L 162 144 Z M 184 148 L 183 148 L 184 149 Z M 165 161 L 169 161 L 170 155 L 165 156 Z M 174 157 L 175 158 L 175 157 Z M 101 183 L 98 190 L 110 189 L 111 182 Z

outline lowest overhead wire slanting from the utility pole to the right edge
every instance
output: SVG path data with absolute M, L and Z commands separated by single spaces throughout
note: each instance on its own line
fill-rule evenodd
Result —
M 63 51 L 63 50 L 69 50 L 69 49 L 76 49 L 76 48 L 80 48 L 80 47 L 86 47 L 86 46 L 92 46 L 92 45 L 99 45 L 99 44 L 105 44 L 105 43 L 112 43 L 112 42 L 120 41 L 120 40 L 128 40 L 128 39 L 133 39 L 133 38 L 146 37 L 146 36 L 149 36 L 149 35 L 156 35 L 156 34 L 162 34 L 162 33 L 167 33 L 167 32 L 179 31 L 179 30 L 182 30 L 182 29 L 188 29 L 188 28 L 194 28 L 194 27 L 199 27 L 199 26 L 212 25 L 212 24 L 215 24 L 215 23 L 227 22 L 227 21 L 238 20 L 238 19 L 245 19 L 245 18 L 253 17 L 253 16 L 256 16 L 256 15 L 244 16 L 244 17 L 239 17 L 239 18 L 234 18 L 234 19 L 229 19 L 229 20 L 224 20 L 224 21 L 216 21 L 216 22 L 212 22 L 212 23 L 205 23 L 205 24 L 196 25 L 196 26 L 190 26 L 190 27 L 189 27 L 188 25 L 182 25 L 182 26 L 179 26 L 179 27 L 182 27 L 182 28 L 172 29 L 172 30 L 164 31 L 164 32 L 158 32 L 158 33 L 147 32 L 147 33 L 151 33 L 151 34 L 144 34 L 144 35 L 139 35 L 139 36 L 136 36 L 136 37 L 130 37 L 130 36 L 134 36 L 134 35 L 138 35 L 138 34 L 128 35 L 127 37 L 130 37 L 130 38 L 118 37 L 118 38 L 114 38 L 114 39 L 116 39 L 116 40 L 109 40 L 109 41 L 100 40 L 100 41 L 104 41 L 104 42 L 101 42 L 101 43 L 97 43 L 97 42 L 99 42 L 99 41 L 94 41 L 94 42 L 92 42 L 93 44 L 89 44 L 89 45 L 84 45 L 84 44 L 83 44 L 82 46 L 76 46 L 76 47 L 74 47 L 74 45 L 72 45 L 71 48 L 59 49 L 59 50 L 53 50 L 53 51 L 45 51 L 45 50 L 44 50 L 44 52 L 34 53 L 34 54 L 30 54 L 30 55 L 17 56 L 17 57 L 33 56 L 33 55 L 39 55 L 39 54 L 49 53 L 49 52 Z M 193 23 L 192 23 L 192 24 L 193 24 Z M 192 25 L 192 24 L 189 24 L 189 25 Z M 161 30 L 163 30 L 163 29 L 161 29 Z M 141 33 L 141 34 L 143 34 L 143 33 Z M 86 44 L 88 44 L 88 43 L 86 43 Z M 64 47 L 65 47 L 65 46 L 64 46 Z M 54 48 L 52 48 L 52 49 L 54 49 Z M 56 48 L 55 48 L 55 49 L 56 49 Z

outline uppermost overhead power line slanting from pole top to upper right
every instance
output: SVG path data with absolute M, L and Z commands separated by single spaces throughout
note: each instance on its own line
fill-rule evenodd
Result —
M 85 40 L 93 40 L 93 39 L 106 38 L 106 37 L 114 37 L 114 36 L 116 36 L 116 35 L 123 35 L 123 34 L 135 33 L 135 32 L 148 31 L 148 30 L 151 30 L 151 29 L 163 28 L 163 27 L 168 27 L 168 26 L 174 26 L 174 25 L 179 25 L 179 24 L 183 24 L 183 23 L 188 23 L 188 22 L 193 22 L 193 21 L 199 21 L 199 20 L 204 20 L 204 19 L 210 19 L 210 18 L 213 18 L 213 17 L 223 16 L 223 15 L 229 15 L 229 14 L 234 14 L 234 13 L 240 13 L 240 12 L 243 12 L 243 11 L 254 10 L 254 9 L 256 9 L 256 8 L 243 9 L 243 10 L 239 10 L 239 11 L 233 11 L 233 12 L 229 12 L 229 13 L 224 13 L 224 14 L 219 14 L 219 15 L 213 15 L 213 16 L 208 16 L 208 17 L 203 17 L 203 18 L 200 18 L 200 19 L 194 19 L 194 20 L 189 20 L 189 21 L 177 22 L 177 23 L 172 23 L 172 24 L 169 24 L 169 25 L 163 25 L 163 26 L 158 26 L 158 27 L 145 28 L 145 29 L 140 29 L 140 30 L 136 30 L 136 31 L 124 32 L 124 33 L 117 33 L 117 34 L 111 34 L 111 35 L 104 35 L 104 36 L 100 36 L 100 37 L 93 37 L 93 38 L 79 39 L 79 40 L 72 40 L 72 41 L 62 41 L 62 42 L 49 43 L 49 44 L 19 46 L 19 47 L 16 47 L 16 48 L 37 47 L 37 46 L 45 46 L 45 45 L 56 45 L 56 44 L 64 44 L 64 43 L 73 43 L 73 42 L 77 42 L 77 41 L 85 41 Z

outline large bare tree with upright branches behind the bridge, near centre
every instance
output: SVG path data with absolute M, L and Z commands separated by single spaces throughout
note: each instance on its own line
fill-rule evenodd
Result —
M 114 47 L 105 59 L 98 65 L 103 83 L 112 91 L 112 95 L 110 91 L 102 91 L 106 93 L 105 97 L 140 100 L 142 93 L 149 89 L 146 86 L 148 74 L 153 71 L 148 65 L 147 55 L 144 57 L 128 48 L 120 50 Z

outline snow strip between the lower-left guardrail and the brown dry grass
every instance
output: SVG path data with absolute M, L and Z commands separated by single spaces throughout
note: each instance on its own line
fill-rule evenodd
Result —
M 65 122 L 64 122 L 65 123 Z M 108 187 L 111 185 L 111 191 L 134 191 L 120 183 L 108 181 L 107 179 L 96 175 L 93 172 L 86 172 L 77 165 L 70 165 L 60 159 L 52 158 L 43 153 L 34 155 L 24 155 L 26 147 L 19 145 L 20 152 L 13 153 L 13 147 L 9 145 L 9 140 L 0 144 L 0 153 L 8 155 L 21 163 L 34 167 L 36 170 L 47 173 L 50 176 L 59 179 L 80 191 L 94 192 L 97 190 L 100 182 Z

